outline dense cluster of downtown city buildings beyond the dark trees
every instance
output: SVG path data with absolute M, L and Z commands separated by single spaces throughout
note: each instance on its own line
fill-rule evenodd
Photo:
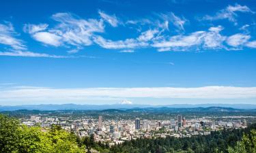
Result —
M 224 128 L 245 128 L 247 122 L 241 120 L 212 120 L 210 118 L 190 118 L 186 120 L 182 115 L 170 120 L 108 120 L 102 116 L 98 118 L 71 119 L 68 117 L 30 116 L 22 124 L 42 128 L 50 128 L 52 124 L 59 124 L 66 131 L 73 131 L 79 137 L 94 135 L 96 141 L 114 145 L 138 138 L 154 137 L 191 137 L 193 135 L 209 135 L 210 131 Z

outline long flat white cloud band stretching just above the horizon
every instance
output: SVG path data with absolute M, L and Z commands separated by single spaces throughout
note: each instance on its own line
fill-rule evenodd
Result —
M 0 102 L 83 101 L 104 98 L 248 99 L 256 98 L 256 87 L 203 86 L 196 88 L 4 88 Z

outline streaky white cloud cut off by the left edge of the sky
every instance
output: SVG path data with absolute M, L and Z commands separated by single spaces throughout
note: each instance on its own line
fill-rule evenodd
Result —
M 16 38 L 17 33 L 10 22 L 0 24 L 0 44 L 9 46 L 13 50 L 26 50 L 24 42 Z

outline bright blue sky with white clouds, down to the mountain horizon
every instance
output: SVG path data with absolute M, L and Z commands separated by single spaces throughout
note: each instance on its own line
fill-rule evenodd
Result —
M 253 1 L 1 1 L 0 105 L 256 103 Z

